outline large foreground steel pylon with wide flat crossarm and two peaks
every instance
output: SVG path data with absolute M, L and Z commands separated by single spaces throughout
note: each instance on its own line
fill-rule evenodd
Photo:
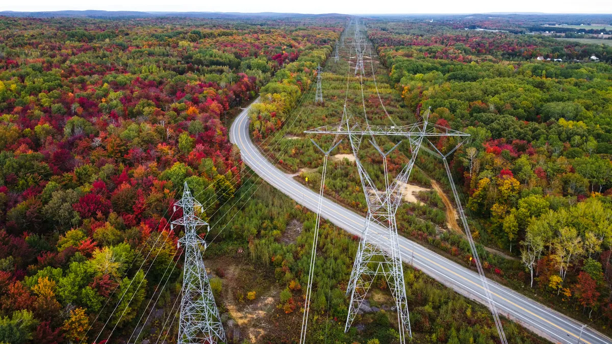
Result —
M 357 36 L 357 35 L 356 35 Z M 312 134 L 329 134 L 329 135 L 346 135 L 351 143 L 351 149 L 355 157 L 357 164 L 357 171 L 359 171 L 359 177 L 361 179 L 362 188 L 364 190 L 365 199 L 368 205 L 368 212 L 366 215 L 364 231 L 362 233 L 362 239 L 359 243 L 359 250 L 353 265 L 353 272 L 351 279 L 349 280 L 348 288 L 346 290 L 347 296 L 351 296 L 351 302 L 349 304 L 348 316 L 346 318 L 345 331 L 348 331 L 349 327 L 356 318 L 359 307 L 365 299 L 365 296 L 370 289 L 371 284 L 377 275 L 382 275 L 386 281 L 389 289 L 395 299 L 395 305 L 398 313 L 398 323 L 400 343 L 405 343 L 406 335 L 412 336 L 408 305 L 406 304 L 406 288 L 404 285 L 404 274 L 401 263 L 401 252 L 398 244 L 397 234 L 397 223 L 395 220 L 395 214 L 401 204 L 405 188 L 403 185 L 408 182 L 408 178 L 414 167 L 417 154 L 420 148 L 424 148 L 426 151 L 431 152 L 439 157 L 442 157 L 445 163 L 447 173 L 450 176 L 450 169 L 448 168 L 446 157 L 457 149 L 460 144 L 452 149 L 448 154 L 442 155 L 437 151 L 436 147 L 433 148 L 437 151 L 434 152 L 431 149 L 425 147 L 428 143 L 429 138 L 440 138 L 442 136 L 469 136 L 466 133 L 458 132 L 440 125 L 432 124 L 428 122 L 430 110 L 427 110 L 422 121 L 411 124 L 411 125 L 370 125 L 367 122 L 363 124 L 357 121 L 348 111 L 346 106 L 343 110 L 342 120 L 336 124 L 325 125 L 312 130 L 307 130 L 305 133 Z M 383 157 L 383 168 L 384 168 L 384 187 L 385 190 L 379 190 L 375 183 L 372 181 L 370 174 L 362 165 L 359 159 L 358 152 L 364 136 L 371 138 L 370 143 L 376 148 L 381 157 Z M 399 141 L 389 151 L 383 151 L 381 147 L 376 143 L 376 136 L 389 136 Z M 389 180 L 389 172 L 387 170 L 387 157 L 394 151 L 403 140 L 408 140 L 410 145 L 410 159 L 400 173 L 395 177 L 393 181 Z M 425 143 L 424 143 L 425 140 Z M 430 142 L 429 142 L 430 143 Z M 453 185 L 451 179 L 451 185 Z M 466 228 L 466 233 L 471 242 L 472 253 L 474 258 L 477 260 L 476 249 L 473 245 L 471 233 L 469 233 L 468 223 L 465 220 L 465 214 L 461 208 L 458 195 L 453 185 L 453 192 L 455 194 L 455 200 L 460 209 L 460 215 L 462 223 Z M 376 224 L 378 226 L 373 226 Z M 381 230 L 382 228 L 382 230 Z M 477 265 L 480 266 L 480 261 L 477 260 Z M 485 291 L 487 291 L 488 304 L 496 320 L 498 326 L 498 332 L 502 338 L 502 343 L 506 343 L 506 338 L 501 329 L 501 323 L 499 323 L 499 316 L 496 308 L 491 301 L 491 295 L 488 291 L 487 279 L 483 274 L 482 267 L 479 268 L 480 277 Z

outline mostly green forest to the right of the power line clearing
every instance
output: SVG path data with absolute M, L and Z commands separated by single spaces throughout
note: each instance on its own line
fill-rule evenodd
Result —
M 612 320 L 612 70 L 584 60 L 595 54 L 608 61 L 610 51 L 534 38 L 532 45 L 548 46 L 535 55 L 582 61 L 535 62 L 524 53 L 520 61 L 518 47 L 504 47 L 512 35 L 482 36 L 469 38 L 467 50 L 461 40 L 398 47 L 371 33 L 406 107 L 431 107 L 433 120 L 472 133 L 453 165 L 483 244 L 523 263 L 524 271 L 512 268 L 506 278 L 539 288 L 560 308 L 607 319 L 606 326 Z M 498 47 L 480 48 L 480 40 Z M 423 168 L 443 178 L 436 163 Z

